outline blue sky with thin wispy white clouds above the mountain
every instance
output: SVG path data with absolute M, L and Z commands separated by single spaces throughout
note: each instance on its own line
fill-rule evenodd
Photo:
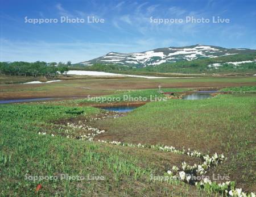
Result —
M 205 44 L 256 49 L 256 1 L 14 1 L 0 0 L 0 61 L 90 60 L 108 52 L 142 52 Z M 28 19 L 58 19 L 32 24 Z M 85 23 L 60 23 L 60 17 Z M 87 17 L 104 23 L 87 23 Z M 186 23 L 185 17 L 210 19 Z M 212 23 L 212 17 L 229 23 Z M 152 19 L 183 19 L 158 24 Z

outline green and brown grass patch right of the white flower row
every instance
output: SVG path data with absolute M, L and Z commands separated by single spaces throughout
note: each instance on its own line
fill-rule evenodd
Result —
M 238 187 L 252 191 L 256 181 L 255 102 L 247 94 L 151 102 L 123 118 L 96 123 L 110 131 L 98 138 L 224 153 L 228 160 L 209 173 L 229 175 Z

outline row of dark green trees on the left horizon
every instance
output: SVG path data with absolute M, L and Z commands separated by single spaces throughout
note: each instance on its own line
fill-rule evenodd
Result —
M 44 76 L 44 77 L 56 77 L 57 74 L 66 74 L 71 66 L 71 62 L 67 64 L 59 62 L 47 63 L 44 61 L 36 62 L 0 62 L 0 74 L 8 74 L 10 76 Z

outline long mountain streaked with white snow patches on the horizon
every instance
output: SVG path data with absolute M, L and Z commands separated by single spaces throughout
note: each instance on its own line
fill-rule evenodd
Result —
M 192 45 L 188 47 L 158 48 L 141 53 L 116 53 L 110 52 L 105 56 L 93 60 L 84 61 L 82 65 L 119 64 L 123 66 L 145 67 L 148 65 L 159 65 L 177 61 L 191 61 L 199 58 L 213 58 L 235 54 L 246 54 L 256 52 L 251 49 L 228 49 L 209 45 Z

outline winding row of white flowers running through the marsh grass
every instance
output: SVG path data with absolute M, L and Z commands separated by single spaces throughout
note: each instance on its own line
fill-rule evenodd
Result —
M 114 118 L 118 116 L 114 116 Z M 96 118 L 98 119 L 98 118 Z M 95 120 L 96 120 L 95 119 Z M 100 135 L 101 133 L 104 133 L 104 130 L 100 130 L 98 128 L 93 128 L 90 127 L 89 125 L 76 125 L 73 123 L 67 123 L 67 126 L 72 128 L 72 129 L 85 129 L 86 131 L 93 131 L 93 133 L 89 133 L 86 135 L 81 135 L 77 137 L 77 139 L 80 140 L 88 140 L 88 141 L 93 141 L 95 136 Z M 65 131 L 65 129 L 64 129 Z M 39 132 L 39 135 L 41 133 Z M 46 133 L 42 133 L 42 135 L 46 135 Z M 54 136 L 52 134 L 52 136 Z M 69 135 L 67 136 L 69 138 Z M 105 141 L 105 140 L 98 140 L 99 142 L 102 143 L 108 143 L 108 144 L 114 144 L 114 145 L 121 145 L 121 146 L 130 146 L 130 147 L 137 147 L 137 148 L 150 148 L 150 149 L 155 149 L 155 150 L 162 150 L 164 152 L 172 152 L 176 154 L 184 154 L 188 155 L 190 157 L 196 157 L 196 158 L 201 158 L 203 160 L 203 164 L 194 164 L 194 165 L 188 165 L 186 162 L 183 162 L 181 164 L 181 170 L 177 166 L 173 166 L 172 170 L 168 170 L 167 174 L 172 178 L 172 179 L 180 179 L 181 181 L 188 182 L 188 183 L 193 183 L 191 182 L 191 175 L 204 175 L 207 173 L 207 169 L 209 169 L 210 166 L 216 166 L 218 164 L 221 164 L 224 160 L 225 157 L 223 154 L 217 154 L 214 153 L 212 156 L 209 156 L 208 154 L 202 154 L 198 152 L 197 150 L 177 150 L 175 149 L 174 146 L 166 146 L 166 145 L 148 145 L 148 144 L 129 144 L 129 143 L 123 143 L 121 141 Z M 204 178 L 203 181 L 195 181 L 196 186 L 200 187 L 214 187 L 215 191 L 219 192 L 225 192 L 229 196 L 234 196 L 234 197 L 255 197 L 255 194 L 251 192 L 251 194 L 245 194 L 242 192 L 241 188 L 234 188 L 230 187 L 230 182 L 225 182 L 225 183 L 216 183 L 212 182 L 207 178 Z M 216 189 L 217 187 L 217 189 Z

